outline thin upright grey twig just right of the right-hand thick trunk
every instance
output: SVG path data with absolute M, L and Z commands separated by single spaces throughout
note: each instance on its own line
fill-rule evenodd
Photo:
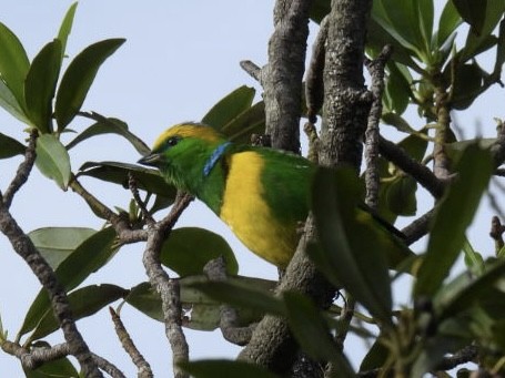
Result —
M 372 76 L 372 94 L 374 96 L 368 114 L 368 124 L 365 131 L 365 203 L 374 210 L 376 210 L 378 205 L 378 123 L 382 115 L 384 68 L 392 53 L 393 48 L 387 44 L 376 59 L 373 61 L 365 60 L 365 65 Z

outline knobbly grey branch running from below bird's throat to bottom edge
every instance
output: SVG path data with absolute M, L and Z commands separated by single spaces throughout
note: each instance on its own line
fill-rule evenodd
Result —
M 152 287 L 160 294 L 166 338 L 173 353 L 173 372 L 175 378 L 186 378 L 188 375 L 179 367 L 188 361 L 189 347 L 182 331 L 182 306 L 179 280 L 170 279 L 161 267 L 160 249 L 179 216 L 190 204 L 192 197 L 179 192 L 170 214 L 161 222 L 148 228 L 148 243 L 142 262 Z

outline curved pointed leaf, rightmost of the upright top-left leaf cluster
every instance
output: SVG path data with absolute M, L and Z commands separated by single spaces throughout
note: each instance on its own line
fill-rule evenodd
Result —
M 55 101 L 55 118 L 61 132 L 80 111 L 98 70 L 124 39 L 109 39 L 85 48 L 63 74 Z

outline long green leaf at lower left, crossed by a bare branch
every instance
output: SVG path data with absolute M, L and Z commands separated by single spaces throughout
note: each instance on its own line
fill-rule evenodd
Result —
M 89 275 L 105 265 L 118 251 L 114 247 L 115 231 L 103 228 L 87 238 L 55 269 L 60 284 L 70 292 L 80 285 Z M 37 327 L 39 321 L 51 311 L 48 294 L 40 290 L 24 317 L 19 335 L 24 335 Z

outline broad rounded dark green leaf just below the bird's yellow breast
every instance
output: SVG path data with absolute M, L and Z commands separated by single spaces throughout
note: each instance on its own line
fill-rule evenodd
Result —
M 198 275 L 211 259 L 224 257 L 226 273 L 235 275 L 239 264 L 226 241 L 204 228 L 173 229 L 161 248 L 161 263 L 180 276 Z

